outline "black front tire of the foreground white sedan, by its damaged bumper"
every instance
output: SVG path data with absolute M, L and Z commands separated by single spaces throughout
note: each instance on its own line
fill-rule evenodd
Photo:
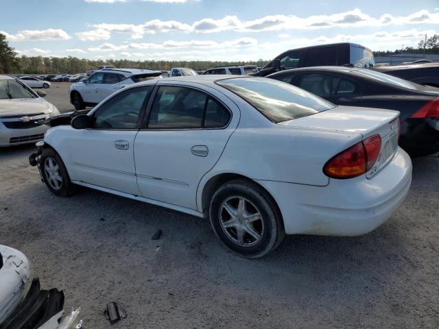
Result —
M 46 164 L 49 164 L 52 160 L 58 165 L 58 176 L 60 177 L 60 180 L 51 179 L 50 173 L 45 167 Z M 40 164 L 43 180 L 51 193 L 58 195 L 58 197 L 69 197 L 77 191 L 77 186 L 71 182 L 69 173 L 67 173 L 67 169 L 64 166 L 64 162 L 62 162 L 60 156 L 58 156 L 54 149 L 43 149 L 38 162 Z M 55 181 L 59 183 L 59 188 L 56 188 Z

